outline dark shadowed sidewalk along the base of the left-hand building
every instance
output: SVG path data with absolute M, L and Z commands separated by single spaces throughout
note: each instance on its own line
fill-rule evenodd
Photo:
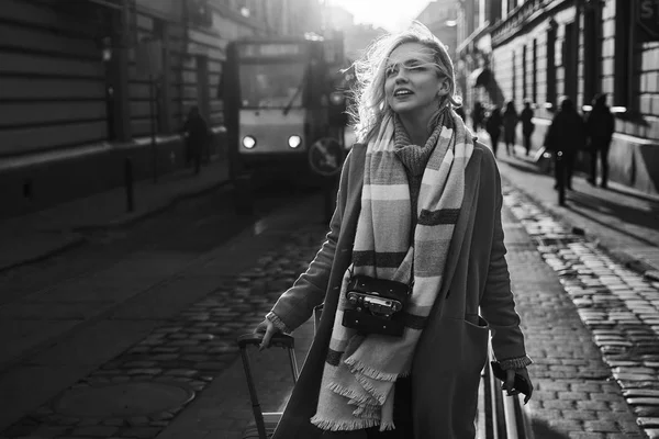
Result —
M 0 272 L 45 259 L 85 241 L 83 232 L 122 227 L 161 212 L 177 201 L 212 190 L 228 181 L 226 161 L 202 166 L 199 176 L 187 168 L 134 183 L 133 212 L 127 211 L 124 187 L 44 211 L 0 221 Z

